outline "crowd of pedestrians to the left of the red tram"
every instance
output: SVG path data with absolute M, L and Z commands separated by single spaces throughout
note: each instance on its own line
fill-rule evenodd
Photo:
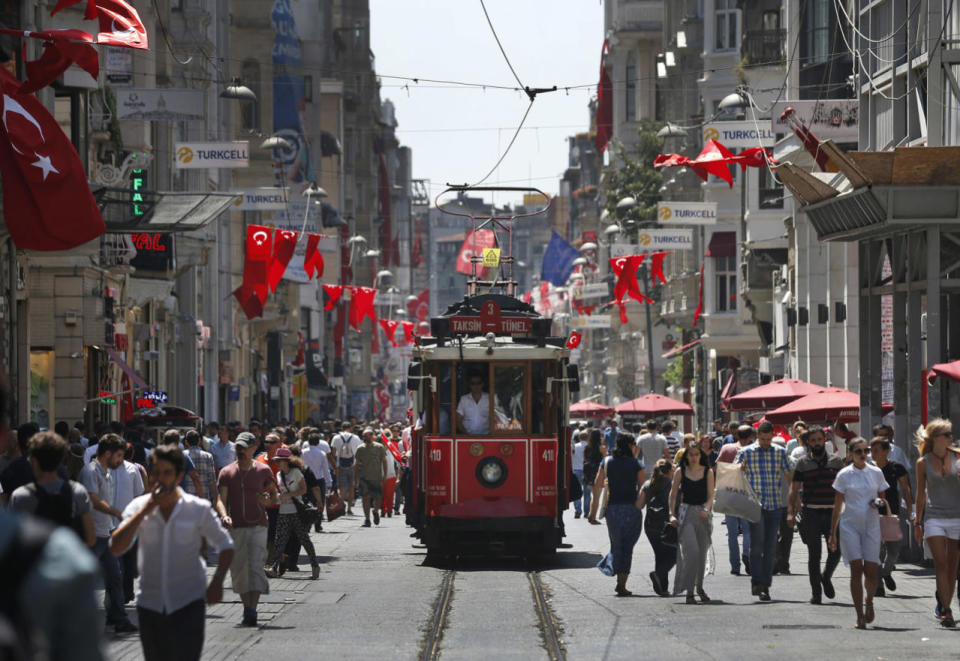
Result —
M 271 579 L 300 571 L 301 550 L 309 578 L 319 578 L 309 533 L 323 531 L 325 511 L 352 513 L 361 499 L 362 527 L 399 513 L 410 427 L 355 421 L 322 427 L 214 422 L 204 435 L 113 423 L 87 433 L 82 423 L 65 422 L 56 431 L 32 423 L 11 431 L 0 420 L 0 501 L 7 510 L 0 524 L 22 527 L 24 547 L 38 535 L 33 521 L 40 531 L 53 526 L 56 534 L 44 533 L 43 542 L 76 554 L 70 587 L 83 591 L 69 601 L 92 600 L 99 582 L 107 630 L 139 633 L 144 658 L 199 659 L 206 606 L 221 600 L 228 573 L 243 604 L 240 624 L 256 626 Z M 15 567 L 2 549 L 0 556 L 5 571 Z M 208 562 L 216 566 L 209 579 Z M 44 585 L 55 594 L 58 586 L 50 583 Z M 90 604 L 69 630 L 31 628 L 51 659 L 100 659 L 104 628 L 96 618 Z

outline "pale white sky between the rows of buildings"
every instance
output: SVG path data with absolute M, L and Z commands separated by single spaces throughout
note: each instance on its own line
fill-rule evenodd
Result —
M 486 0 L 487 11 L 520 80 L 560 91 L 540 95 L 525 128 L 489 185 L 537 186 L 556 193 L 567 166 L 567 136 L 588 128 L 603 45 L 598 0 Z M 516 86 L 479 0 L 370 0 L 377 74 Z M 380 95 L 396 106 L 397 132 L 413 152 L 413 176 L 474 183 L 506 148 L 529 103 L 509 90 L 467 89 L 382 78 Z M 589 84 L 563 91 L 565 86 Z M 403 86 L 407 85 L 408 89 Z M 488 197 L 489 199 L 489 197 Z M 498 203 L 517 196 L 500 196 Z

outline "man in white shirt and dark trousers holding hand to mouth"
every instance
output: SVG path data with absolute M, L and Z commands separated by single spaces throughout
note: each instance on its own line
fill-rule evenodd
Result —
M 185 493 L 185 460 L 176 446 L 153 452 L 150 475 L 156 489 L 135 498 L 123 511 L 110 550 L 121 555 L 139 537 L 140 589 L 137 614 L 147 661 L 199 659 L 203 651 L 205 602 L 223 596 L 223 578 L 233 562 L 233 540 L 210 502 Z M 207 585 L 201 543 L 217 549 L 217 571 Z

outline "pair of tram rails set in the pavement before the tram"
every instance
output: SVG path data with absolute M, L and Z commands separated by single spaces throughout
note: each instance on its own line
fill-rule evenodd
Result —
M 512 574 L 516 575 L 516 572 L 512 572 Z M 433 604 L 433 612 L 426 626 L 420 654 L 421 661 L 437 661 L 441 658 L 444 634 L 448 633 L 448 627 L 450 626 L 450 612 L 454 603 L 457 575 L 456 570 L 447 570 L 440 582 L 437 598 Z M 550 605 L 547 590 L 540 578 L 540 572 L 536 570 L 527 571 L 525 577 L 529 595 L 533 601 L 536 628 L 539 630 L 541 647 L 550 661 L 566 661 L 566 650 L 560 636 L 560 622 Z M 504 606 L 508 606 L 506 602 Z

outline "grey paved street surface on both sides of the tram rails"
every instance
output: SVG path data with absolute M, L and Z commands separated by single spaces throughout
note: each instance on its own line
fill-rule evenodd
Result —
M 207 611 L 205 659 L 283 661 L 418 658 L 448 568 L 424 566 L 424 550 L 412 544 L 402 519 L 361 528 L 344 517 L 313 535 L 323 560 L 318 581 L 308 573 L 271 581 L 260 609 L 261 626 L 239 626 L 241 606 Z M 722 517 L 714 526 L 718 567 L 705 589 L 709 605 L 654 595 L 647 574 L 653 554 L 641 537 L 634 556 L 630 598 L 613 594 L 614 579 L 595 565 L 607 551 L 606 526 L 568 517 L 569 549 L 544 567 L 541 578 L 569 659 L 956 659 L 960 629 L 941 629 L 933 619 L 933 577 L 901 565 L 898 589 L 877 599 L 877 618 L 867 631 L 853 629 L 848 573 L 841 565 L 837 600 L 811 606 L 804 572 L 806 549 L 795 539 L 791 576 L 774 577 L 773 601 L 750 595 L 747 576 L 731 576 Z M 308 568 L 306 562 L 301 564 Z M 527 568 L 514 559 L 467 559 L 456 567 L 442 659 L 545 659 Z M 111 638 L 109 658 L 140 658 L 139 640 Z

